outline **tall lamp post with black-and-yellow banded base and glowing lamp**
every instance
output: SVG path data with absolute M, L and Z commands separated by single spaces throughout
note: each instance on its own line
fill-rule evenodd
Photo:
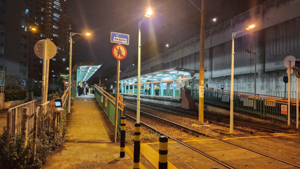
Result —
M 145 17 L 150 17 L 151 8 L 148 8 Z M 139 123 L 139 104 L 140 104 L 140 25 L 145 17 L 138 22 L 138 46 L 137 46 L 137 98 L 136 98 L 136 123 L 134 124 L 134 149 L 133 149 L 133 168 L 139 168 L 140 151 L 140 123 Z M 133 88 L 134 89 L 134 88 Z M 136 133 L 136 134 L 135 134 Z

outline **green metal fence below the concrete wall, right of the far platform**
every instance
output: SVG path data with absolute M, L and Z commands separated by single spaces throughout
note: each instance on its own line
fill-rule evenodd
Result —
M 198 98 L 198 89 L 193 89 L 192 97 Z M 205 88 L 204 103 L 209 103 L 215 106 L 230 107 L 230 92 L 228 90 L 220 90 L 213 88 Z M 246 92 L 234 91 L 233 108 L 240 112 L 249 112 L 261 117 L 270 117 L 280 120 L 287 120 L 287 114 L 281 113 L 281 105 L 287 106 L 285 97 L 263 95 Z M 291 98 L 290 104 L 290 119 L 291 122 L 296 120 L 296 102 Z

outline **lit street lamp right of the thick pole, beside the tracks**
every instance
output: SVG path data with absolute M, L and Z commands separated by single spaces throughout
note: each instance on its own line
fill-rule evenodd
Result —
M 250 30 L 255 27 L 254 24 L 249 25 L 244 30 L 237 32 L 232 32 L 232 48 L 231 48 L 231 80 L 230 80 L 230 129 L 229 133 L 233 133 L 233 75 L 234 75 L 234 37 L 237 33 L 243 32 L 245 30 Z M 233 27 L 232 27 L 233 30 Z

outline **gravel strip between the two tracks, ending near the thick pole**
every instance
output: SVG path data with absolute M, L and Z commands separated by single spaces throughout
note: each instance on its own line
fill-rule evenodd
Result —
M 126 106 L 129 106 L 129 107 L 132 107 L 132 108 L 136 107 L 135 104 L 128 103 L 128 102 L 126 102 Z M 169 121 L 173 121 L 175 123 L 187 126 L 189 128 L 192 128 L 192 129 L 197 130 L 199 132 L 205 133 L 207 135 L 218 136 L 219 133 L 217 133 L 213 130 L 219 130 L 219 131 L 223 131 L 223 132 L 229 131 L 228 127 L 223 127 L 223 126 L 219 126 L 217 124 L 212 124 L 212 123 L 209 124 L 210 126 L 202 126 L 202 127 L 192 126 L 191 125 L 192 123 L 198 123 L 198 120 L 195 119 L 195 118 L 192 118 L 192 117 L 185 117 L 185 116 L 180 116 L 180 115 L 177 115 L 177 114 L 170 114 L 170 113 L 166 113 L 166 112 L 162 113 L 159 110 L 155 110 L 155 109 L 151 109 L 151 108 L 145 108 L 145 107 L 140 107 L 140 109 L 141 109 L 141 111 L 145 111 L 145 112 L 153 114 L 155 116 L 159 116 L 159 117 L 167 119 Z M 240 132 L 240 131 L 234 131 L 234 132 L 242 134 L 242 132 Z

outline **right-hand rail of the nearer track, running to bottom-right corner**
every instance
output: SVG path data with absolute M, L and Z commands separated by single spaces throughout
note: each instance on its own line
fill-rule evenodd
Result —
M 128 107 L 128 106 L 127 106 L 127 108 L 132 109 L 132 110 L 136 110 L 136 109 L 134 109 L 134 108 L 132 108 L 132 107 Z M 190 130 L 190 132 L 192 132 L 192 133 L 197 133 L 197 135 L 207 135 L 207 134 L 205 134 L 205 133 L 201 133 L 201 132 L 199 132 L 199 131 L 196 131 L 196 130 L 193 130 L 193 129 L 188 128 L 188 127 L 186 127 L 186 126 L 177 124 L 177 123 L 175 123 L 175 122 L 172 122 L 172 121 L 169 121 L 169 120 L 166 120 L 166 119 L 157 117 L 157 116 L 155 116 L 155 115 L 146 113 L 146 112 L 144 112 L 144 111 L 140 111 L 140 112 L 143 113 L 143 114 L 149 115 L 149 116 L 151 116 L 151 117 L 160 119 L 160 120 L 162 120 L 162 121 L 164 121 L 164 122 L 170 123 L 170 124 L 172 124 L 172 125 L 183 127 L 183 128 L 186 129 L 186 130 Z M 235 145 L 235 146 L 237 146 L 237 147 L 240 147 L 240 148 L 243 148 L 243 149 L 252 151 L 252 152 L 254 152 L 254 153 L 257 153 L 257 154 L 260 154 L 260 155 L 263 155 L 263 156 L 266 156 L 266 157 L 269 157 L 269 158 L 272 158 L 272 159 L 275 159 L 275 160 L 278 160 L 278 161 L 281 161 L 281 162 L 284 162 L 284 163 L 287 163 L 287 164 L 290 164 L 290 165 L 293 165 L 293 166 L 296 166 L 296 167 L 299 167 L 299 168 L 300 168 L 300 165 L 298 165 L 298 164 L 291 163 L 291 162 L 289 162 L 289 161 L 286 161 L 286 160 L 283 160 L 283 159 L 279 159 L 279 158 L 277 158 L 277 157 L 274 157 L 274 156 L 271 156 L 271 155 L 268 155 L 268 154 L 265 154 L 265 153 L 262 153 L 262 152 L 258 152 L 258 151 L 256 151 L 256 150 L 253 150 L 253 149 L 250 149 L 250 148 L 247 148 L 247 147 L 244 147 L 244 146 L 241 146 L 241 145 L 238 145 L 238 144 L 235 144 L 235 143 L 226 141 L 226 140 L 224 140 L 224 139 L 222 139 L 222 138 L 217 138 L 217 137 L 212 136 L 212 135 L 207 135 L 207 136 L 209 136 L 209 137 L 211 137 L 211 138 L 214 138 L 214 139 L 217 139 L 217 140 L 220 140 L 220 141 L 223 141 L 223 142 L 226 142 L 226 143 L 229 143 L 229 144 L 231 144 L 231 145 Z

